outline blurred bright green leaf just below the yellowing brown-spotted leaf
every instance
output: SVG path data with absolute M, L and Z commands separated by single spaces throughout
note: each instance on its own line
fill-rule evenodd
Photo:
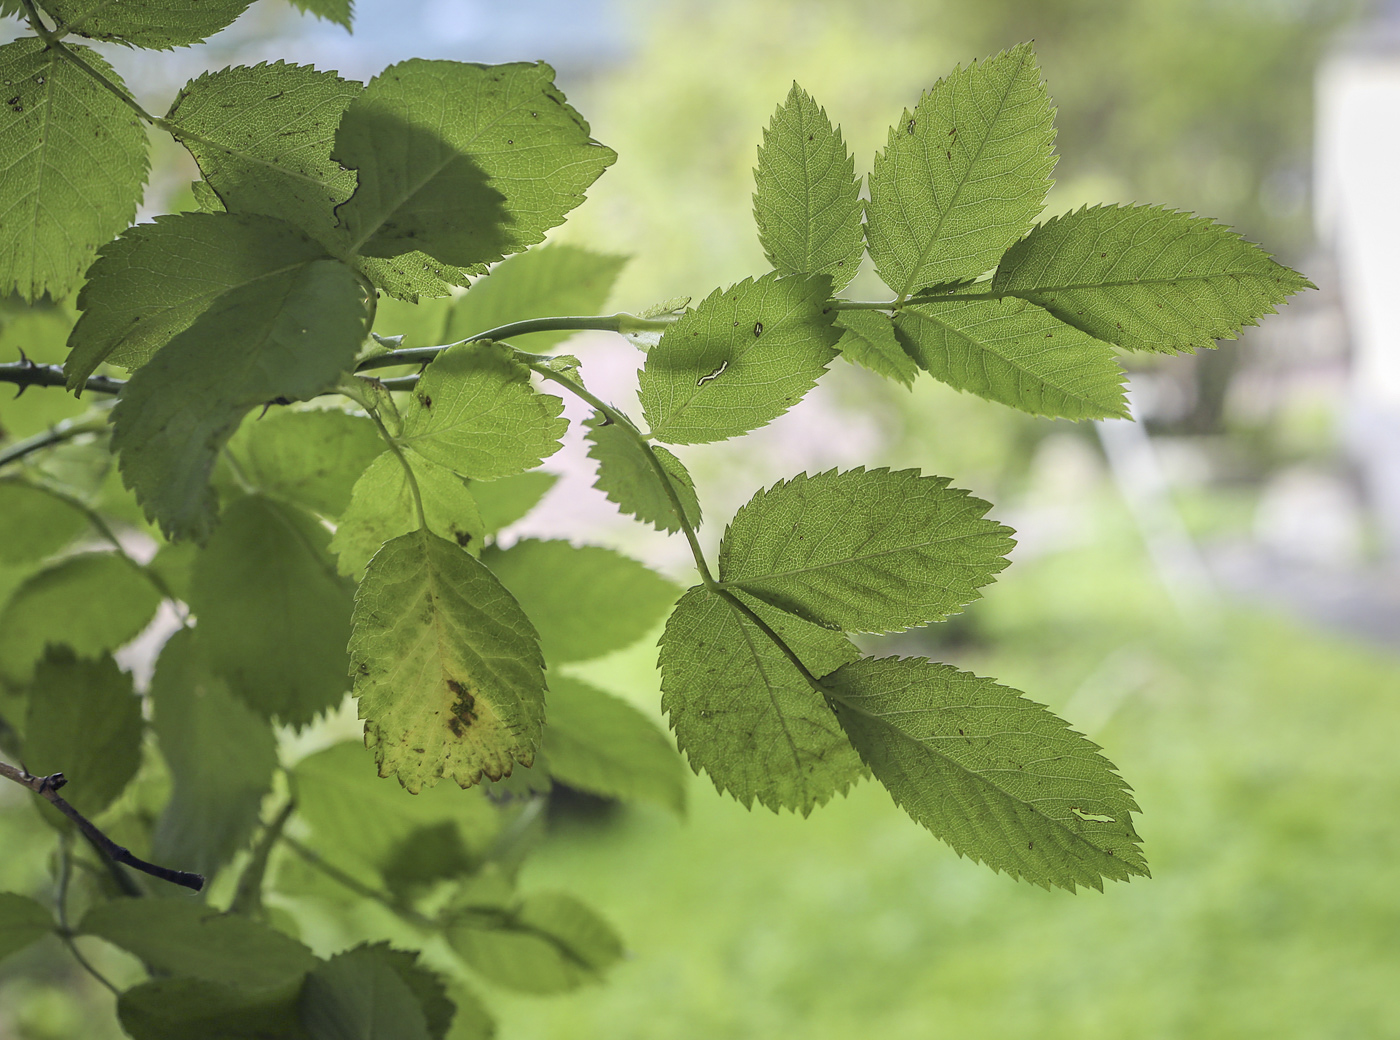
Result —
M 480 791 L 424 788 L 410 795 L 375 774 L 363 740 L 337 743 L 297 763 L 291 773 L 297 815 L 311 827 L 311 844 L 332 862 L 391 873 L 405 854 L 420 854 L 416 838 L 451 827 L 459 845 L 480 855 L 500 830 Z

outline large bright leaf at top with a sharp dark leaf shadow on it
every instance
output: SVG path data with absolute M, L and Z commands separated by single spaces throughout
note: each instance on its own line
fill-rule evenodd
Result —
M 370 81 L 333 153 L 360 174 L 337 211 L 354 249 L 465 267 L 563 223 L 616 154 L 589 137 L 553 78 L 543 63 L 412 59 Z

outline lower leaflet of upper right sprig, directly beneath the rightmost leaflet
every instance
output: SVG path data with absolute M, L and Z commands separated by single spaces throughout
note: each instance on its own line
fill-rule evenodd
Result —
M 904 349 L 935 379 L 1035 416 L 1126 419 L 1113 349 L 1023 300 L 904 307 Z

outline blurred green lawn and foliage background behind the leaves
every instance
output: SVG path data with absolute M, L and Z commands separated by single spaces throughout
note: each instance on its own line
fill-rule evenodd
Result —
M 270 13 L 258 14 L 263 7 Z M 417 10 L 385 0 L 358 7 L 361 18 Z M 1309 314 L 1336 293 L 1310 237 L 1313 73 L 1338 34 L 1369 17 L 1366 4 L 517 7 L 515 52 L 476 53 L 465 39 L 452 56 L 556 62 L 570 99 L 619 153 L 559 235 L 634 258 L 617 307 L 701 295 L 764 269 L 750 171 L 762 127 L 792 80 L 841 125 L 862 171 L 920 91 L 953 64 L 1022 39 L 1036 41 L 1060 108 L 1053 210 L 1152 202 L 1208 214 L 1319 283 L 1322 293 L 1294 308 Z M 424 8 L 486 18 L 486 4 Z M 253 29 L 213 50 L 220 60 L 239 48 L 304 53 L 286 42 L 308 31 L 290 8 L 259 4 L 253 14 Z M 532 50 L 532 17 L 540 25 L 603 20 L 588 39 L 616 46 L 592 57 Z M 354 39 L 377 45 L 372 28 Z M 413 39 L 402 46 L 377 63 L 414 53 Z M 175 168 L 155 183 L 188 174 Z M 158 211 L 158 200 L 148 204 Z M 876 294 L 868 272 L 851 291 Z M 1345 470 L 1336 402 L 1282 395 L 1232 406 L 1232 388 L 1277 364 L 1268 351 L 1289 342 L 1268 336 L 1266 321 L 1240 343 L 1140 372 L 1144 385 L 1156 379 L 1180 400 L 1151 428 L 1168 462 L 1190 465 L 1168 466 L 1172 491 L 1148 508 L 1180 521 L 1187 546 L 1257 540 L 1260 503 L 1281 466 Z M 589 350 L 636 364 L 620 342 Z M 592 356 L 585 375 L 589 364 Z M 854 465 L 853 452 L 868 465 L 944 473 L 991 497 L 994 515 L 1025 535 L 1015 564 L 952 623 L 869 649 L 928 654 L 995 676 L 1102 743 L 1142 805 L 1154 878 L 1103 894 L 1047 893 L 959 859 L 875 784 L 802 820 L 749 813 L 696 778 L 683 822 L 645 806 L 556 815 L 528 882 L 592 901 L 631 956 L 606 984 L 574 995 L 493 992 L 503 1037 L 1400 1034 L 1392 747 L 1400 633 L 1389 645 L 1364 642 L 1285 603 L 1260 605 L 1214 584 L 1183 592 L 1149 554 L 1154 528 L 1141 503 L 1128 508 L 1092 427 L 1016 416 L 931 381 L 904 392 L 840 363 L 826 384 L 811 407 L 759 441 L 762 458 L 753 448 L 685 456 L 703 497 L 717 503 L 707 501 L 711 526 L 759 483 L 804 466 Z M 802 454 L 773 455 L 794 441 Z M 629 544 L 627 535 L 613 537 Z M 1358 551 L 1337 565 L 1376 563 L 1365 537 Z M 644 642 L 587 673 L 655 711 L 652 668 Z M 0 792 L 10 848 L 42 831 L 15 794 Z M 0 883 L 41 885 L 6 859 Z M 81 1004 L 70 999 L 76 991 Z M 0 966 L 0 1039 L 94 1036 L 83 1009 L 108 1002 L 74 980 L 56 949 Z

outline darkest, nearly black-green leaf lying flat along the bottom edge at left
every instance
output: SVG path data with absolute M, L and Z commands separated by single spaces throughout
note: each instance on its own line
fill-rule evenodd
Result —
M 300 985 L 239 990 L 202 978 L 153 978 L 116 1001 L 133 1040 L 307 1040 Z

